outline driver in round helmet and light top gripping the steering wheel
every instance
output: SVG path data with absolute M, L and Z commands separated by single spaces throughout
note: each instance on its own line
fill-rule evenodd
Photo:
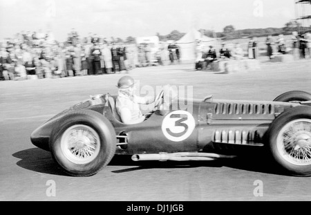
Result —
M 124 124 L 138 124 L 147 120 L 152 113 L 143 115 L 140 104 L 155 102 L 153 97 L 138 97 L 135 95 L 135 83 L 132 77 L 124 76 L 117 82 L 119 93 L 116 101 L 117 113 Z

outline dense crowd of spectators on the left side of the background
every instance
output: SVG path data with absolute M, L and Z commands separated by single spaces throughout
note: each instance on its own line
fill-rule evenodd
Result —
M 149 44 L 106 41 L 92 33 L 80 38 L 74 28 L 63 43 L 53 32 L 39 30 L 18 33 L 0 48 L 0 80 L 127 73 L 138 66 L 162 64 L 163 59 L 161 50 L 151 56 Z

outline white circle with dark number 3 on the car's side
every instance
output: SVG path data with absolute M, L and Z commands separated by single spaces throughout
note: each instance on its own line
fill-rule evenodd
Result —
M 192 114 L 187 111 L 173 111 L 162 122 L 164 136 L 173 142 L 180 142 L 189 138 L 195 127 L 196 121 Z

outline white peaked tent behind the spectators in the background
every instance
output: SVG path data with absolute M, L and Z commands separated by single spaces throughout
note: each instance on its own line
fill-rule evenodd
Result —
M 192 29 L 180 40 L 176 41 L 180 48 L 180 60 L 182 62 L 195 62 L 201 57 L 202 50 L 208 50 L 209 46 L 218 47 L 216 38 L 202 35 L 198 30 Z

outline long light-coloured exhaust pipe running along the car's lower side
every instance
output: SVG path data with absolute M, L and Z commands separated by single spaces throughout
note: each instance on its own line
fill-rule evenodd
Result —
M 217 153 L 156 153 L 156 154 L 136 154 L 132 156 L 133 161 L 158 160 L 158 161 L 188 161 L 188 160 L 216 160 L 218 158 L 234 158 L 235 156 L 225 156 Z

